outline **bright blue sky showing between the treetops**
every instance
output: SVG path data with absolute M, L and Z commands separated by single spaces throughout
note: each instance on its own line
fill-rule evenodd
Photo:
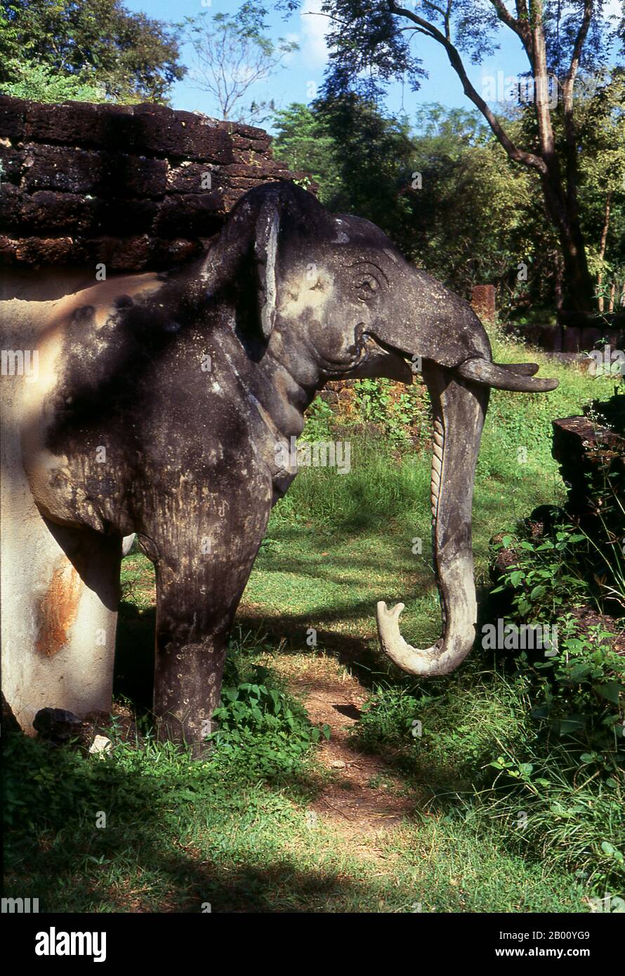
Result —
M 609 0 L 609 6 L 616 8 L 620 0 Z M 210 4 L 210 6 L 209 6 Z M 217 13 L 234 13 L 238 0 L 125 0 L 125 6 L 130 10 L 144 11 L 150 17 L 159 20 L 184 20 L 185 17 L 195 17 L 206 13 L 208 17 Z M 271 0 L 266 4 L 271 6 Z M 323 71 L 327 62 L 327 50 L 323 35 L 325 18 L 319 16 L 321 0 L 304 0 L 302 13 L 294 14 L 289 20 L 283 20 L 276 12 L 271 12 L 269 22 L 271 37 L 281 36 L 289 40 L 296 40 L 300 50 L 290 55 L 286 66 L 277 72 L 267 82 L 260 83 L 250 90 L 250 99 L 256 101 L 274 100 L 276 107 L 284 108 L 291 102 L 310 102 L 312 85 L 320 86 Z M 493 56 L 480 65 L 469 65 L 469 75 L 480 93 L 484 90 L 484 78 L 490 76 L 500 80 L 520 74 L 526 70 L 527 61 L 521 51 L 521 44 L 512 32 L 503 28 L 499 32 L 500 49 Z M 414 42 L 413 42 L 414 43 Z M 387 104 L 393 111 L 406 112 L 412 117 L 415 108 L 424 102 L 441 102 L 449 107 L 471 108 L 471 102 L 462 91 L 460 81 L 449 65 L 446 56 L 436 43 L 427 37 L 420 36 L 416 41 L 416 49 L 423 61 L 423 66 L 429 73 L 424 79 L 417 93 L 408 87 L 402 91 L 399 84 L 394 85 L 389 93 Z M 183 50 L 183 62 L 190 64 L 191 57 L 187 48 Z M 175 108 L 186 108 L 205 112 L 207 115 L 219 114 L 217 105 L 210 95 L 193 88 L 192 80 L 186 77 L 178 82 L 173 89 L 172 104 Z M 265 123 L 270 128 L 268 123 Z

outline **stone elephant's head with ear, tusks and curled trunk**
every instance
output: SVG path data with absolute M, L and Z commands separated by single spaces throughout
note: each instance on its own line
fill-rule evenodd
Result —
M 498 365 L 471 305 L 410 264 L 368 221 L 332 215 L 290 183 L 251 190 L 210 250 L 211 293 L 233 284 L 250 296 L 259 342 L 299 363 L 312 395 L 329 379 L 384 376 L 410 383 L 419 363 L 434 412 L 431 502 L 443 633 L 432 647 L 407 644 L 403 604 L 378 603 L 384 651 L 403 671 L 453 671 L 471 650 L 477 618 L 472 502 L 491 387 L 555 389 L 533 364 Z M 304 386 L 306 386 L 306 379 Z M 312 399 L 312 396 L 311 396 Z

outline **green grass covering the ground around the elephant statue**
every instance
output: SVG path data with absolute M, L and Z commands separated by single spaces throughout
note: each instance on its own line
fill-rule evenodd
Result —
M 533 358 L 497 339 L 495 354 Z M 482 584 L 490 537 L 537 505 L 562 501 L 552 418 L 580 412 L 600 383 L 601 395 L 609 391 L 553 363 L 541 374 L 558 376 L 559 390 L 492 397 L 474 507 Z M 244 740 L 218 743 L 201 762 L 149 736 L 119 736 L 101 758 L 18 741 L 5 747 L 15 818 L 6 894 L 38 896 L 43 911 L 62 912 L 200 912 L 210 904 L 214 912 L 478 913 L 579 912 L 592 894 L 622 892 L 609 853 L 622 847 L 622 797 L 596 782 L 571 783 L 557 750 L 545 758 L 550 785 L 538 797 L 535 774 L 515 781 L 514 763 L 540 752 L 521 676 L 474 652 L 450 677 L 419 683 L 381 659 L 379 598 L 406 603 L 406 639 L 438 634 L 430 456 L 399 454 L 346 429 L 352 472 L 304 468 L 271 515 L 230 667 L 238 679 L 265 669 L 267 688 L 283 696 L 306 744 L 306 713 L 280 674 L 303 674 L 313 655 L 339 659 L 367 699 L 354 748 L 381 757 L 385 772 L 373 785 L 409 797 L 412 815 L 373 840 L 346 834 L 340 820 L 312 819 L 336 774 L 319 762 L 312 739 L 297 755 L 288 735 L 274 748 L 277 719 L 269 731 L 251 723 Z M 413 552 L 415 539 L 421 552 Z M 115 687 L 141 713 L 153 640 L 153 574 L 141 553 L 124 561 L 122 583 Z M 139 728 L 146 732 L 145 719 Z M 267 761 L 259 765 L 259 756 Z M 489 765 L 502 756 L 511 757 L 507 773 Z M 28 793 L 25 779 L 34 784 Z

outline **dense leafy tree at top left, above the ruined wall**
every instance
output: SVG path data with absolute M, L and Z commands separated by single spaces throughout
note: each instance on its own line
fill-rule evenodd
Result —
M 115 102 L 164 102 L 181 79 L 178 30 L 121 0 L 2 0 L 0 87 Z M 46 81 L 47 79 L 47 81 Z M 63 87 L 62 82 L 66 83 Z M 14 86 L 14 87 L 11 87 Z M 70 93 L 67 96 L 66 93 Z

